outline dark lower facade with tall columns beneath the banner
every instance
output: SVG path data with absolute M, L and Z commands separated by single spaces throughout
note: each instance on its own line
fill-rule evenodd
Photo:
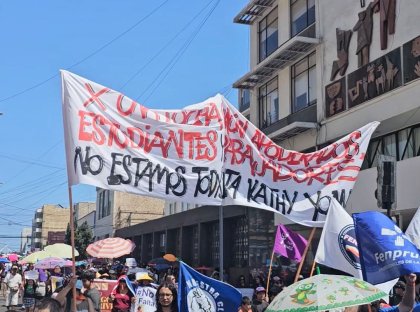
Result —
M 186 204 L 185 204 L 186 206 Z M 224 267 L 235 284 L 248 278 L 250 268 L 267 265 L 275 236 L 273 213 L 229 206 L 224 209 Z M 139 263 L 172 253 L 194 267 L 219 267 L 219 208 L 200 206 L 117 230 L 115 235 L 136 244 L 132 256 Z

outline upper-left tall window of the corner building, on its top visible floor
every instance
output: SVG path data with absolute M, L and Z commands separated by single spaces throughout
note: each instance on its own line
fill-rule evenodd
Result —
M 264 60 L 278 48 L 277 7 L 274 8 L 259 24 L 259 60 Z

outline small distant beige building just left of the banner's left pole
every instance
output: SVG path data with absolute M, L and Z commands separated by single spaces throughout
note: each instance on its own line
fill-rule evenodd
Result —
M 42 250 L 51 242 L 59 242 L 70 221 L 70 209 L 61 205 L 43 205 L 37 209 L 32 221 L 32 249 Z M 64 240 L 63 240 L 64 242 Z

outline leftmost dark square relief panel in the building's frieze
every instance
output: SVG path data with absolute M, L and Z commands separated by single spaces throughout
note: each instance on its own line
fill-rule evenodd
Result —
M 325 110 L 327 117 L 346 110 L 346 78 L 343 77 L 325 87 Z

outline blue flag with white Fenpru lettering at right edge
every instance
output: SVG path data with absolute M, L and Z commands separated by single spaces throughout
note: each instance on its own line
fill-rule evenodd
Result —
M 353 214 L 363 279 L 379 284 L 420 272 L 419 250 L 387 216 L 377 211 Z

